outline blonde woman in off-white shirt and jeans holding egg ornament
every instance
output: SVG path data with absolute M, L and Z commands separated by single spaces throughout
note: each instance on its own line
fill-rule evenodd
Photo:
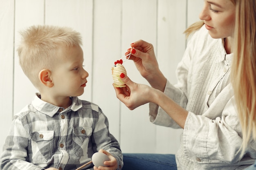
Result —
M 131 44 L 133 60 L 150 86 L 120 75 L 115 88 L 129 109 L 149 104 L 150 121 L 183 128 L 174 155 L 124 154 L 123 170 L 241 170 L 256 159 L 256 1 L 204 0 L 202 22 L 189 42 L 175 85 L 162 72 L 152 44 Z M 241 147 L 242 146 L 242 147 Z

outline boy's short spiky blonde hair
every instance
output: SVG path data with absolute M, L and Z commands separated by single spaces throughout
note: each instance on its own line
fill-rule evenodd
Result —
M 40 87 L 38 74 L 42 69 L 51 69 L 57 62 L 57 50 L 82 45 L 80 33 L 68 27 L 37 25 L 20 31 L 18 46 L 20 66 L 32 84 Z

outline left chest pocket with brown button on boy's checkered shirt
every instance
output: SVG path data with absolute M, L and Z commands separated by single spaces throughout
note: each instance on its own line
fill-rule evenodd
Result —
M 33 161 L 45 162 L 49 160 L 52 157 L 54 131 L 33 132 L 30 137 Z

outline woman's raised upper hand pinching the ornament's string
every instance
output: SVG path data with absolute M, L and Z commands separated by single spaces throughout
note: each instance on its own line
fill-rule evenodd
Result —
M 126 55 L 131 53 L 129 60 L 133 60 L 139 73 L 149 82 L 149 84 L 160 91 L 164 91 L 166 78 L 159 70 L 153 45 L 143 40 L 130 44 Z

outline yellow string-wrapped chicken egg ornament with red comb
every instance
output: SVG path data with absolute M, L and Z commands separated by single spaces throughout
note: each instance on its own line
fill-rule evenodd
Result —
M 122 64 L 123 64 L 123 60 L 117 60 L 115 62 L 115 65 L 112 67 L 112 78 L 113 78 L 115 87 L 126 87 L 125 83 L 120 78 L 121 73 L 124 73 L 125 75 L 127 75 L 126 69 Z

